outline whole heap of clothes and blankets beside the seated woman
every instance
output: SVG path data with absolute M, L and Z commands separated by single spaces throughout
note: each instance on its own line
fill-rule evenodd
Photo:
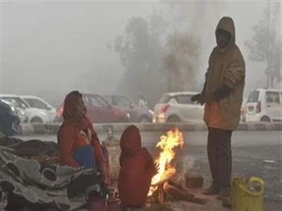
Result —
M 0 210 L 118 210 L 99 172 L 57 162 L 56 143 L 1 137 Z

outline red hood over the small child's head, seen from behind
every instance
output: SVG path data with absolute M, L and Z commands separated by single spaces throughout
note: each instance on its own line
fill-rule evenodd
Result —
M 125 154 L 134 155 L 141 149 L 141 136 L 135 125 L 130 125 L 121 135 L 121 151 Z

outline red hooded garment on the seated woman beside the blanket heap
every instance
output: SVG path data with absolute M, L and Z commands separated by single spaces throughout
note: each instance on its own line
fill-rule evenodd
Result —
M 66 96 L 63 108 L 63 124 L 59 129 L 57 138 L 59 145 L 59 158 L 61 164 L 79 167 L 78 162 L 73 159 L 73 152 L 90 144 L 93 147 L 94 156 L 104 173 L 104 159 L 102 148 L 93 129 L 93 125 L 87 117 L 82 120 L 78 118 L 76 103 L 78 95 L 72 91 Z

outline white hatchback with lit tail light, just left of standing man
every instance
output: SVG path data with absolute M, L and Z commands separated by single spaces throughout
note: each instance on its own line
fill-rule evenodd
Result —
M 164 94 L 154 107 L 155 122 L 203 121 L 204 106 L 191 101 L 193 91 Z

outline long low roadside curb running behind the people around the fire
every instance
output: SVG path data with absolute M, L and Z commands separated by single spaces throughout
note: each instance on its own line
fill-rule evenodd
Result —
M 126 127 L 133 123 L 116 123 L 116 124 L 93 124 L 96 132 L 108 132 L 111 129 L 113 132 L 123 132 Z M 145 123 L 145 124 L 135 124 L 140 132 L 166 132 L 170 129 L 178 127 L 181 131 L 184 132 L 193 132 L 193 131 L 205 131 L 207 126 L 204 123 L 181 123 L 181 124 L 154 124 L 154 123 Z M 61 127 L 61 123 L 49 123 L 49 124 L 21 124 L 20 132 L 24 136 L 29 136 L 32 134 L 57 134 Z M 282 122 L 252 122 L 252 123 L 240 123 L 236 130 L 247 131 L 247 130 L 282 130 Z

